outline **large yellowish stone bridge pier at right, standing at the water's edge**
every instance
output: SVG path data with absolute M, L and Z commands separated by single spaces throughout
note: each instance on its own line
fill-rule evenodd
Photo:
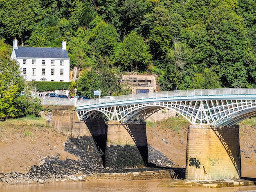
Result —
M 188 125 L 186 174 L 189 180 L 239 179 L 239 126 Z

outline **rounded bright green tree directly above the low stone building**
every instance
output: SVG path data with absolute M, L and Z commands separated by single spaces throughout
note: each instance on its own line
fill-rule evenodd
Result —
M 144 39 L 136 32 L 129 33 L 119 47 L 115 51 L 116 61 L 120 64 L 121 69 L 137 73 L 145 71 L 148 67 L 152 55 L 149 52 L 149 47 Z M 135 70 L 134 70 L 135 68 Z

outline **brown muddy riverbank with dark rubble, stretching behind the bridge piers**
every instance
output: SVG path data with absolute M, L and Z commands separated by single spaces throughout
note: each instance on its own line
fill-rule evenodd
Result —
M 92 138 L 70 139 L 38 120 L 1 124 L 0 184 L 184 177 L 186 127 L 177 132 L 159 122 L 149 124 L 149 167 L 121 170 L 103 167 L 102 154 Z M 241 124 L 242 177 L 256 177 L 255 141 L 256 128 Z

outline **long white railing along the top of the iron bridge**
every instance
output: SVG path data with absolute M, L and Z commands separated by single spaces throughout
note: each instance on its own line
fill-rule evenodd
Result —
M 146 100 L 154 98 L 175 98 L 175 97 L 201 97 L 201 96 L 227 96 L 227 95 L 256 95 L 255 88 L 228 88 L 228 89 L 193 89 L 193 90 L 179 90 L 167 92 L 153 92 L 143 94 L 130 94 L 122 96 L 112 96 L 106 98 L 89 99 L 84 101 L 77 101 L 76 106 L 95 105 L 102 103 L 116 103 L 127 100 Z

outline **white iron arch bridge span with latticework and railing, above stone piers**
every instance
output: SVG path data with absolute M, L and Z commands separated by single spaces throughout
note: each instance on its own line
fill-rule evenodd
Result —
M 225 127 L 256 114 L 256 89 L 196 89 L 131 94 L 78 101 L 79 120 L 140 123 L 160 109 L 171 109 L 192 125 Z

